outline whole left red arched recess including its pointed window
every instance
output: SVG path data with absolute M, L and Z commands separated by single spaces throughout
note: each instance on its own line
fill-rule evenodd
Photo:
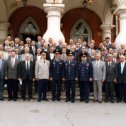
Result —
M 15 20 L 16 19 L 16 20 Z M 29 36 L 36 39 L 36 35 L 43 35 L 47 29 L 46 13 L 37 7 L 26 6 L 17 9 L 9 18 L 9 34 L 19 36 L 23 40 Z M 30 30 L 29 26 L 34 30 Z

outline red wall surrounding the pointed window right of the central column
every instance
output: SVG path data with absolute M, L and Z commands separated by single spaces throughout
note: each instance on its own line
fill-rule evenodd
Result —
M 93 11 L 86 8 L 76 8 L 63 15 L 61 21 L 63 24 L 62 32 L 64 33 L 66 42 L 68 43 L 70 39 L 70 32 L 73 25 L 80 18 L 83 18 L 90 26 L 93 39 L 96 41 L 96 44 L 100 43 L 102 41 L 102 31 L 100 29 L 102 24 L 101 20 Z

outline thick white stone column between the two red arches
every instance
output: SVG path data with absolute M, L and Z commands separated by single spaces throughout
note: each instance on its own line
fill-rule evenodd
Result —
M 47 13 L 47 31 L 43 38 L 46 42 L 49 38 L 53 38 L 57 45 L 59 40 L 65 42 L 64 35 L 60 30 L 61 13 L 64 11 L 65 5 L 62 3 L 46 3 L 43 6 Z

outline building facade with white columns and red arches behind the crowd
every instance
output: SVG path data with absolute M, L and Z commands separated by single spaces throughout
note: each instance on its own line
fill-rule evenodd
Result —
M 88 1 L 88 0 L 87 0 Z M 83 0 L 0 1 L 0 41 L 7 35 L 36 39 L 42 35 L 55 41 L 81 38 L 90 43 L 110 37 L 116 45 L 126 44 L 126 1 L 92 0 L 84 7 Z

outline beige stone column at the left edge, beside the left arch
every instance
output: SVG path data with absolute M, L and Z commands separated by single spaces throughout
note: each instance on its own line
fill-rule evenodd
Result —
M 4 43 L 8 35 L 9 23 L 0 23 L 0 43 Z

